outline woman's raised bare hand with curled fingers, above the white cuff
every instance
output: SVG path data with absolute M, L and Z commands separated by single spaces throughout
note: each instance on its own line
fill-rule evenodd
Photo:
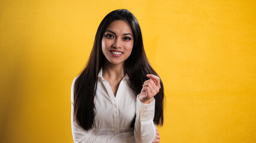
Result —
M 158 76 L 153 74 L 147 74 L 146 76 L 149 77 L 149 79 L 144 82 L 138 99 L 144 104 L 149 104 L 150 99 L 159 92 L 161 86 Z

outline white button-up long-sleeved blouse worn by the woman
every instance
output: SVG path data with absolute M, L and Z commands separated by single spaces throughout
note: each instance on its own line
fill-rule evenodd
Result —
M 103 79 L 103 71 L 98 74 L 97 91 L 94 98 L 94 128 L 84 130 L 73 120 L 74 82 L 71 88 L 71 128 L 74 142 L 88 143 L 151 143 L 155 139 L 156 125 L 153 123 L 155 99 L 143 104 L 135 92 L 129 88 L 125 77 L 119 84 L 116 97 L 107 80 Z M 135 118 L 134 129 L 131 122 Z

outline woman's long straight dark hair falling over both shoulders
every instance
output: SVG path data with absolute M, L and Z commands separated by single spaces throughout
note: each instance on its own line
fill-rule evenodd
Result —
M 155 74 L 155 70 L 150 66 L 147 60 L 140 26 L 137 19 L 128 10 L 115 10 L 107 14 L 100 23 L 97 33 L 95 35 L 94 46 L 91 51 L 87 66 L 77 77 L 74 84 L 74 119 L 77 123 L 85 129 L 89 130 L 94 125 L 94 97 L 97 89 L 98 73 L 103 67 L 106 58 L 101 49 L 101 40 L 103 33 L 110 23 L 115 20 L 124 20 L 131 26 L 132 35 L 134 36 L 134 45 L 131 55 L 124 64 L 124 73 L 129 76 L 129 86 L 138 95 L 142 89 L 143 82 L 148 78 L 146 74 Z M 163 106 L 164 106 L 164 86 L 160 81 L 161 89 L 155 95 L 155 117 L 153 122 L 156 125 L 161 125 L 164 122 Z M 134 123 L 132 123 L 134 126 Z

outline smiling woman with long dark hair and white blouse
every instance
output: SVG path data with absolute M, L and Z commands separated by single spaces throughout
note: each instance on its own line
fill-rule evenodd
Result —
M 128 10 L 107 14 L 71 88 L 74 142 L 159 142 L 164 89 Z

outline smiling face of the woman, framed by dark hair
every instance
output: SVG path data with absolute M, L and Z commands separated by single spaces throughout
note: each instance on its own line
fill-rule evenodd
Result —
M 131 27 L 126 21 L 116 20 L 110 23 L 101 41 L 106 62 L 124 65 L 124 61 L 131 55 L 133 41 Z

